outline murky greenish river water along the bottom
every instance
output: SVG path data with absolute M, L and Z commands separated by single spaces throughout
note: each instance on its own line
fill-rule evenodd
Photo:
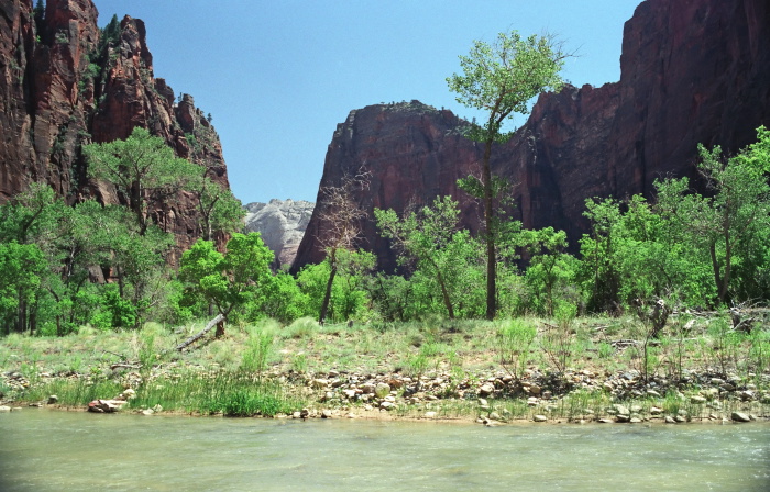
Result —
M 0 490 L 770 490 L 770 425 L 0 414 Z

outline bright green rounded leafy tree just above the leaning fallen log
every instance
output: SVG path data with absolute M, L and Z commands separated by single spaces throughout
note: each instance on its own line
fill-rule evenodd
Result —
M 264 304 L 273 281 L 270 265 L 273 251 L 260 233 L 233 234 L 222 255 L 210 241 L 198 239 L 182 256 L 179 278 L 190 292 L 213 304 L 226 320 L 246 303 Z M 224 335 L 224 325 L 217 327 L 217 337 Z

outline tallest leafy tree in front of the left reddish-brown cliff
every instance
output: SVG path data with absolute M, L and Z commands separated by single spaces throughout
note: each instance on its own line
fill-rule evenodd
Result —
M 190 189 L 200 175 L 200 166 L 174 156 L 163 138 L 139 126 L 124 141 L 90 144 L 82 150 L 89 177 L 116 186 L 133 212 L 140 234 L 150 224 L 150 205 Z

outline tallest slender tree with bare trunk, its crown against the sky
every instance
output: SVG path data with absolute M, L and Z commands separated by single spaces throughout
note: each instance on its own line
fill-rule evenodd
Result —
M 510 134 L 502 131 L 504 121 L 514 113 L 527 114 L 529 101 L 546 90 L 562 86 L 559 76 L 566 54 L 553 36 L 521 37 L 517 32 L 501 33 L 494 44 L 475 41 L 469 56 L 460 56 L 463 74 L 447 79 L 458 102 L 485 111 L 482 125 L 472 124 L 469 136 L 484 144 L 482 160 L 484 227 L 486 232 L 486 317 L 495 317 L 496 247 L 493 234 L 494 180 L 490 168 L 492 145 L 505 142 Z

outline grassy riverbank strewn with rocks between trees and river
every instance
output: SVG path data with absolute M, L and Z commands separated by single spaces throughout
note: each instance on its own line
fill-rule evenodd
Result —
M 761 316 L 760 316 L 761 320 Z M 651 337 L 634 317 L 202 325 L 0 339 L 0 400 L 232 416 L 480 421 L 770 417 L 770 327 L 674 316 Z M 125 391 L 129 390 L 129 391 Z M 53 401 L 53 400 L 52 400 Z M 152 411 L 152 412 L 151 412 Z

